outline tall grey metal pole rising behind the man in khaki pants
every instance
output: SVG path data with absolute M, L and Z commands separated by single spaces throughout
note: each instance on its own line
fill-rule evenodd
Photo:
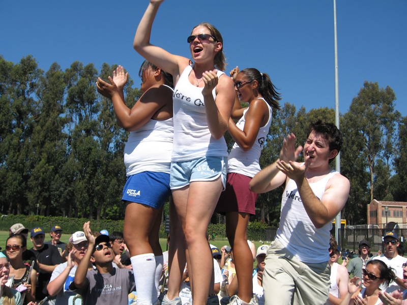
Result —
M 335 48 L 335 125 L 339 129 L 339 85 L 338 85 L 338 38 L 336 35 L 336 0 L 334 0 L 334 48 Z M 336 171 L 340 172 L 340 153 L 335 158 Z M 338 243 L 340 229 L 340 212 L 335 217 L 335 237 Z

